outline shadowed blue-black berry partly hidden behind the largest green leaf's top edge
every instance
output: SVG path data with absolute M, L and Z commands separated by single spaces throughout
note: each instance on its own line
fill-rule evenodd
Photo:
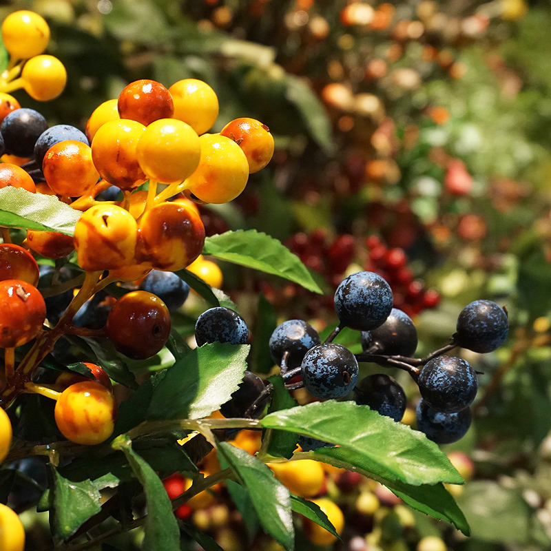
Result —
M 404 389 L 392 377 L 383 373 L 369 375 L 354 389 L 354 400 L 360 406 L 369 406 L 380 415 L 402 421 L 406 411 Z

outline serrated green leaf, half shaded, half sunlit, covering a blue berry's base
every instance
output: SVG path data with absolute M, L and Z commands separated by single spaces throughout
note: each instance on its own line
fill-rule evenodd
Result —
M 147 416 L 201 419 L 225 404 L 247 368 L 248 344 L 205 344 L 169 367 L 154 390 Z

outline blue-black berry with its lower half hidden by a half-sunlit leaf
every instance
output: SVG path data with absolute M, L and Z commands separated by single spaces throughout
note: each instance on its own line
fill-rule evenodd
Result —
M 245 320 L 235 311 L 216 306 L 203 312 L 195 324 L 197 346 L 209 342 L 247 344 L 249 329 Z

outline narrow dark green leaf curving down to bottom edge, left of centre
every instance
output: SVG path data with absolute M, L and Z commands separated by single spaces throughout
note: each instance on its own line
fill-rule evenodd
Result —
M 145 491 L 147 517 L 142 549 L 145 551 L 180 551 L 180 529 L 163 482 L 156 472 L 132 448 L 121 445 L 136 478 Z

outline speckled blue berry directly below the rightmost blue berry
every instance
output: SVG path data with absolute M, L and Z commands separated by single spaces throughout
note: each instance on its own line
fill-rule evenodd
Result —
M 456 356 L 435 357 L 427 362 L 417 384 L 424 401 L 444 413 L 470 406 L 478 391 L 477 373 L 469 362 Z

